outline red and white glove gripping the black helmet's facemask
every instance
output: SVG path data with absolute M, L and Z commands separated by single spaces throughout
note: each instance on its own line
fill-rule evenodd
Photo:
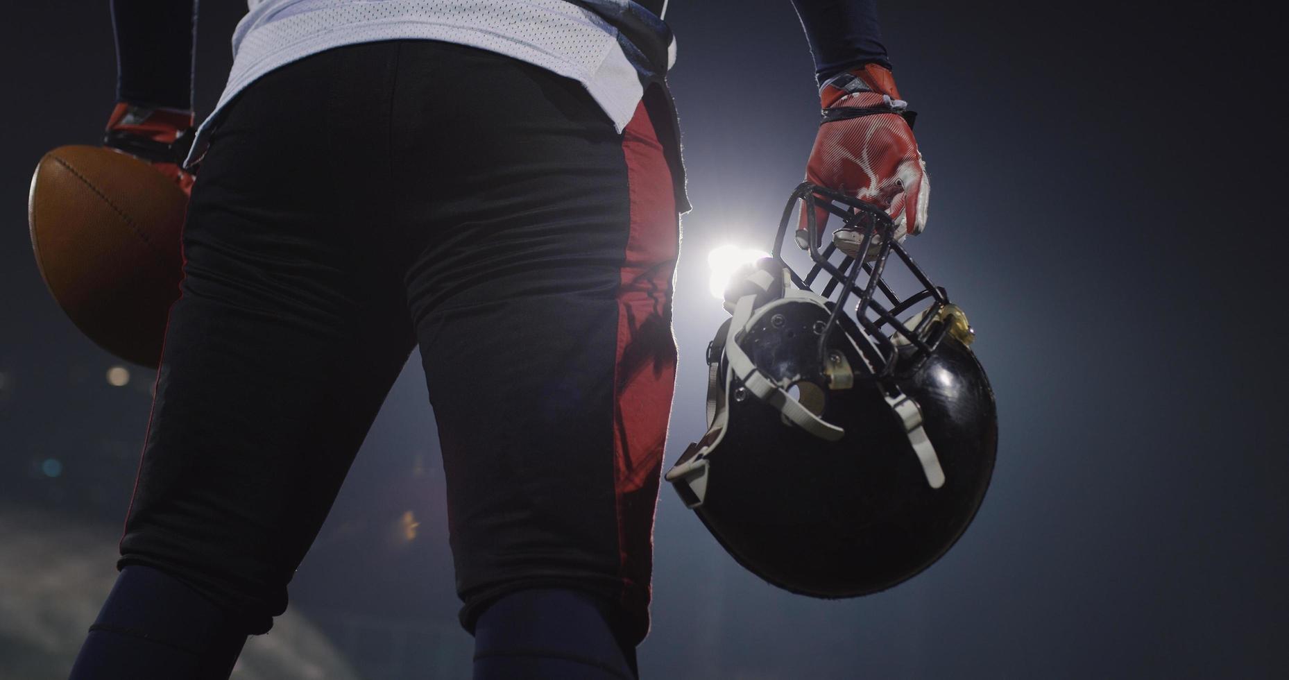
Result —
M 900 99 L 891 71 L 875 63 L 851 68 L 824 85 L 820 105 L 825 123 L 815 137 L 806 181 L 886 210 L 895 219 L 897 241 L 920 234 L 927 226 L 931 185 L 913 129 L 901 115 L 907 103 Z M 856 111 L 847 111 L 851 108 Z M 815 214 L 822 237 L 829 213 L 816 208 Z M 798 243 L 804 248 L 804 209 L 799 228 Z M 833 235 L 838 248 L 851 255 L 862 236 L 856 231 L 837 230 Z

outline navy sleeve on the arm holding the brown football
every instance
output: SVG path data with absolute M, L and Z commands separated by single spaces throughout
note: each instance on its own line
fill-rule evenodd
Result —
M 197 0 L 111 0 L 116 99 L 192 110 Z

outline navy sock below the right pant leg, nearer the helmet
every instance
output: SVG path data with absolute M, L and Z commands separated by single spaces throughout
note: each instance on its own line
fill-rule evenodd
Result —
M 561 588 L 521 590 L 490 605 L 474 627 L 474 680 L 632 680 L 608 608 Z

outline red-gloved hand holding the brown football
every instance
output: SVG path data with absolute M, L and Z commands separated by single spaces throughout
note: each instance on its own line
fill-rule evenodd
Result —
M 119 102 L 107 119 L 103 146 L 146 160 L 189 194 L 193 177 L 182 169 L 192 143 L 192 111 Z

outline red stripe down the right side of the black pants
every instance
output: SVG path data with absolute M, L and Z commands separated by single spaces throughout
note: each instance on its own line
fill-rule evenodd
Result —
M 632 223 L 617 289 L 614 461 L 623 604 L 642 613 L 650 600 L 654 512 L 675 386 L 672 275 L 679 249 L 672 173 L 643 103 L 623 133 L 623 154 Z

